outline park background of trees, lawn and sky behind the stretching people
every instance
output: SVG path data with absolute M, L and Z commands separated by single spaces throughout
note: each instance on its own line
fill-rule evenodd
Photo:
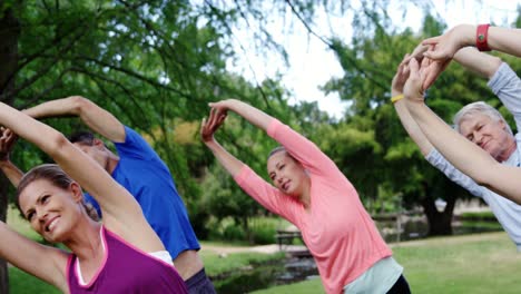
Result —
M 286 254 L 247 248 L 276 243 L 277 229 L 289 224 L 245 195 L 198 138 L 208 102 L 228 97 L 279 118 L 337 164 L 395 242 L 413 292 L 520 293 L 520 257 L 504 233 L 440 237 L 501 228 L 486 207 L 474 202 L 469 209 L 473 197 L 423 159 L 389 102 L 402 57 L 456 24 L 448 17 L 458 11 L 461 20 L 469 11 L 479 16 L 474 23 L 521 27 L 514 1 L 0 0 L 0 100 L 23 109 L 81 95 L 139 130 L 169 166 L 222 293 L 323 292 L 316 276 L 289 288 L 248 280 L 266 264 L 285 271 Z M 281 39 L 293 35 L 307 41 Z M 294 47 L 311 51 L 314 43 L 328 57 L 295 57 Z M 499 56 L 520 72 L 519 59 Z M 295 84 L 295 76 L 306 79 Z M 318 87 L 301 91 L 309 80 Z M 486 80 L 455 63 L 427 104 L 450 121 L 476 100 L 512 122 Z M 81 127 L 75 118 L 45 122 L 66 134 Z M 266 154 L 276 144 L 265 134 L 230 115 L 217 137 L 266 177 Z M 11 160 L 27 170 L 50 159 L 20 140 Z M 12 187 L 0 180 L 1 220 L 9 212 L 10 225 L 39 239 L 12 208 Z M 420 237 L 429 238 L 403 242 Z M 1 263 L 0 293 L 47 292 L 53 290 Z

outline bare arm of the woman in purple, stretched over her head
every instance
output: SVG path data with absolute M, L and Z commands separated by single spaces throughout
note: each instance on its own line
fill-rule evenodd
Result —
M 109 229 L 144 251 L 164 248 L 136 199 L 61 133 L 4 104 L 0 104 L 0 125 L 47 153 L 63 171 L 89 192 L 100 205 L 104 224 Z

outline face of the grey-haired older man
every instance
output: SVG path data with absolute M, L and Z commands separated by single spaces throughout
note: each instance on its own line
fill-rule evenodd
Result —
M 466 115 L 460 122 L 460 134 L 480 146 L 497 160 L 510 156 L 513 141 L 502 120 L 495 120 L 483 114 Z

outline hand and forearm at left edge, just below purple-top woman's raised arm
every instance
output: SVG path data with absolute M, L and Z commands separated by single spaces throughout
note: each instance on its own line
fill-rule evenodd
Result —
M 23 173 L 9 158 L 14 146 L 17 135 L 10 129 L 0 127 L 0 169 L 14 187 L 18 187 Z

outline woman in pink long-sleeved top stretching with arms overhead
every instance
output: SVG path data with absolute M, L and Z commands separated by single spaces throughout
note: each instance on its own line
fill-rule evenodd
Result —
M 210 107 L 200 129 L 204 143 L 247 194 L 301 229 L 327 293 L 410 293 L 403 267 L 393 259 L 356 189 L 315 144 L 239 100 Z M 267 160 L 273 185 L 215 140 L 228 110 L 282 145 Z

